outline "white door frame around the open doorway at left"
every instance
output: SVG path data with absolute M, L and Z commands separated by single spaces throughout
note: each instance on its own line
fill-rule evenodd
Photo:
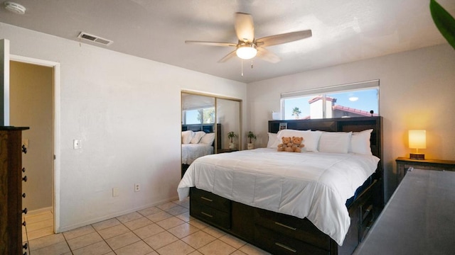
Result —
M 9 55 L 10 61 L 53 68 L 53 216 L 54 233 L 60 232 L 60 63 Z

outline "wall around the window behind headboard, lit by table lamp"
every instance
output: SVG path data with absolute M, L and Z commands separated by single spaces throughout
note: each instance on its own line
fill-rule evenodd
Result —
M 449 45 L 376 57 L 258 81 L 247 86 L 248 130 L 267 145 L 267 121 L 279 112 L 280 94 L 380 79 L 385 195 L 396 187 L 397 157 L 409 157 L 407 130 L 427 130 L 427 159 L 455 160 L 455 50 Z M 420 150 L 419 150 L 420 151 Z

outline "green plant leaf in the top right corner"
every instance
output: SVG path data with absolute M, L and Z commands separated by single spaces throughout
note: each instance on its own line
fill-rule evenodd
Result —
M 455 19 L 437 1 L 430 0 L 429 10 L 432 13 L 434 24 L 446 38 L 449 45 L 455 50 Z

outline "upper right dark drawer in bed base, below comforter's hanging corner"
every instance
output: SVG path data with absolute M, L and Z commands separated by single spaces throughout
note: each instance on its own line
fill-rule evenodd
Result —
M 255 210 L 255 223 L 280 235 L 286 235 L 301 241 L 305 240 L 319 247 L 330 245 L 330 237 L 319 231 L 306 218 L 299 219 L 291 215 L 282 215 L 257 208 Z

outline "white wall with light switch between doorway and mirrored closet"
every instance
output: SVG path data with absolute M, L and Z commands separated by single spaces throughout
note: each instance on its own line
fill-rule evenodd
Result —
M 60 63 L 59 231 L 177 198 L 181 89 L 246 99 L 246 84 L 77 41 L 4 23 L 0 38 L 13 55 Z

